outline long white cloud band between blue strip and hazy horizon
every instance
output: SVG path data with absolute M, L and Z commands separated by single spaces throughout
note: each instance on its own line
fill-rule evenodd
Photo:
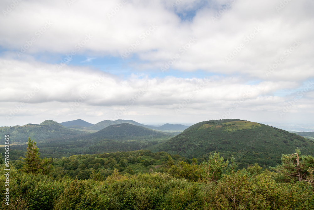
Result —
M 248 85 L 241 77 L 222 76 L 200 79 L 131 75 L 122 79 L 86 67 L 66 66 L 58 71 L 56 65 L 18 60 L 0 60 L 0 70 L 1 82 L 6 81 L 0 87 L 3 118 L 21 103 L 24 105 L 14 117 L 86 115 L 109 119 L 125 107 L 129 108 L 119 117 L 156 115 L 161 120 L 204 112 L 218 118 L 230 108 L 259 110 L 263 115 L 279 111 L 291 98 L 274 96 L 277 91 L 303 87 L 302 83 L 287 81 Z M 312 90 L 307 94 L 309 98 L 300 100 L 298 106 L 306 107 L 313 100 Z

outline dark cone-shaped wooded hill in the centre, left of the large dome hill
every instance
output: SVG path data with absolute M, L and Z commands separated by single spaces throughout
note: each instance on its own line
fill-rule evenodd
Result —
M 122 123 L 118 125 L 108 126 L 94 134 L 93 137 L 101 137 L 103 139 L 133 139 L 136 137 L 166 137 L 169 134 L 155 131 L 149 128 L 144 128 L 137 125 L 132 125 L 129 123 Z

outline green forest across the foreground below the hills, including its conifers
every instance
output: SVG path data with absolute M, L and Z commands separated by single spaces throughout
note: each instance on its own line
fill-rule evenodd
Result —
M 3 199 L 1 209 L 314 208 L 314 158 L 298 149 L 269 169 L 241 168 L 216 152 L 205 159 L 149 150 L 42 159 L 39 150 L 29 139 L 10 167 L 10 205 Z

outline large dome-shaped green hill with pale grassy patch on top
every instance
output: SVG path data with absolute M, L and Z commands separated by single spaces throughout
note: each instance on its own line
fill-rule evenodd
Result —
M 194 124 L 159 145 L 159 151 L 188 158 L 206 158 L 208 153 L 219 152 L 225 158 L 235 155 L 241 164 L 272 166 L 280 162 L 281 154 L 292 154 L 297 147 L 303 154 L 314 154 L 314 142 L 295 133 L 257 122 L 226 119 Z

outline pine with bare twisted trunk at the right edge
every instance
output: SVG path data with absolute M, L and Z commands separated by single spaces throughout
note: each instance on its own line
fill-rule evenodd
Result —
M 311 168 L 314 167 L 314 158 L 312 156 L 300 156 L 300 150 L 296 149 L 292 155 L 282 155 L 282 164 L 273 169 L 283 174 L 286 181 L 303 181 L 311 176 Z

